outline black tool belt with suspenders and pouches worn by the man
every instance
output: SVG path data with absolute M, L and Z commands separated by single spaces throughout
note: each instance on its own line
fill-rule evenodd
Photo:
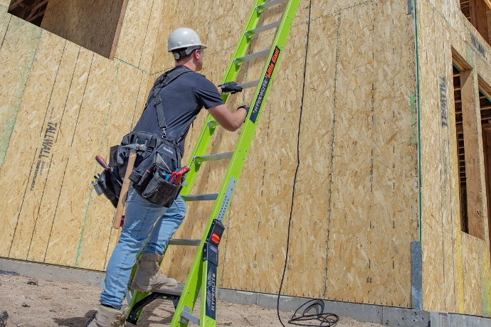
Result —
M 123 149 L 123 146 L 129 144 L 144 144 L 146 146 L 144 151 L 137 151 L 137 158 L 130 174 L 134 191 L 149 202 L 166 208 L 169 208 L 179 195 L 185 176 L 181 174 L 179 180 L 176 178 L 174 183 L 172 183 L 173 181 L 166 181 L 165 177 L 181 169 L 182 154 L 178 144 L 184 139 L 187 129 L 178 140 L 169 141 L 167 139 L 167 123 L 159 92 L 180 75 L 191 71 L 189 68 L 180 67 L 164 73 L 157 78 L 149 92 L 145 110 L 149 103 L 157 98 L 154 104 L 159 129 L 162 129 L 162 136 L 148 132 L 131 132 L 123 137 L 121 145 L 111 147 L 110 170 L 105 170 L 100 174 L 97 185 L 100 186 L 102 193 L 115 208 L 120 197 L 122 180 L 125 178 L 127 161 L 130 156 L 130 149 Z

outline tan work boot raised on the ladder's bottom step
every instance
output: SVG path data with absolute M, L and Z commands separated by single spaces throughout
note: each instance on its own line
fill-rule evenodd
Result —
M 161 288 L 175 289 L 177 287 L 176 279 L 167 278 L 164 274 L 159 274 L 160 260 L 162 260 L 162 255 L 157 253 L 140 255 L 131 288 L 142 292 Z

